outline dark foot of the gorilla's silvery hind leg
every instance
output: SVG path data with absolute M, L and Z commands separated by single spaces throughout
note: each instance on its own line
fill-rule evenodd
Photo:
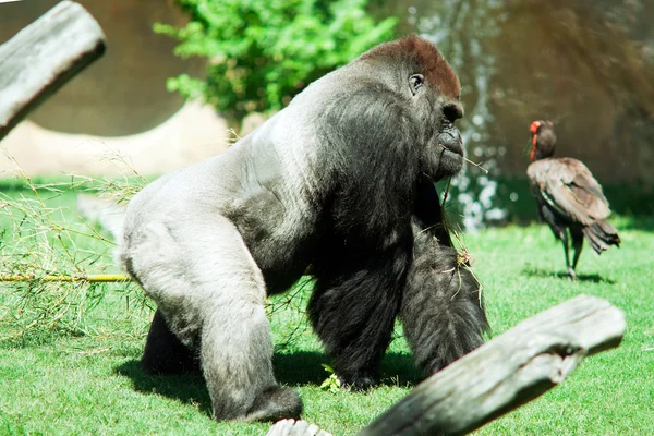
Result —
M 278 386 L 264 390 L 247 411 L 246 421 L 300 419 L 302 400 L 298 392 Z

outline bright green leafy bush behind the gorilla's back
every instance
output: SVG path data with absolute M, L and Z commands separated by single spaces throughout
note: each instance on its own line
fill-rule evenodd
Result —
M 367 15 L 367 0 L 177 0 L 191 15 L 155 32 L 181 43 L 175 55 L 207 58 L 206 78 L 170 78 L 229 120 L 281 109 L 311 82 L 392 36 L 395 19 Z

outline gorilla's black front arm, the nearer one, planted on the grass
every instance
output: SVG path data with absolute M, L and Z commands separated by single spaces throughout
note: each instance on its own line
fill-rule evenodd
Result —
M 399 252 L 386 261 L 371 257 L 342 276 L 334 271 L 322 276 L 316 268 L 308 316 L 344 384 L 358 389 L 375 384 L 399 311 L 407 265 L 408 255 Z

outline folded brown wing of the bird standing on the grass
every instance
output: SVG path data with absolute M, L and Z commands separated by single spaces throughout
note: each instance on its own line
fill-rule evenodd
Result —
M 602 186 L 577 159 L 542 159 L 528 168 L 532 190 L 559 215 L 582 225 L 610 215 Z

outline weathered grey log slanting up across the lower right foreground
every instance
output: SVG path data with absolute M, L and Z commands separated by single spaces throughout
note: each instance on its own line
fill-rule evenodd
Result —
M 586 355 L 617 347 L 625 315 L 580 295 L 522 322 L 420 384 L 360 435 L 460 435 L 560 384 Z

